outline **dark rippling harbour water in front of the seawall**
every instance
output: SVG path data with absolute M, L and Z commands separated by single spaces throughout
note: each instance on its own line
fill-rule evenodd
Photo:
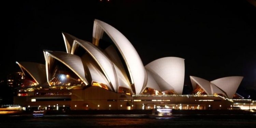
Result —
M 256 115 L 46 115 L 0 116 L 0 128 L 256 128 Z

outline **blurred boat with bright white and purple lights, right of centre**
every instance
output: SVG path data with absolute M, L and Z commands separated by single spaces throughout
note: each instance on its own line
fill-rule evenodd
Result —
M 172 109 L 168 109 L 165 107 L 156 108 L 152 111 L 152 115 L 150 117 L 171 117 Z

